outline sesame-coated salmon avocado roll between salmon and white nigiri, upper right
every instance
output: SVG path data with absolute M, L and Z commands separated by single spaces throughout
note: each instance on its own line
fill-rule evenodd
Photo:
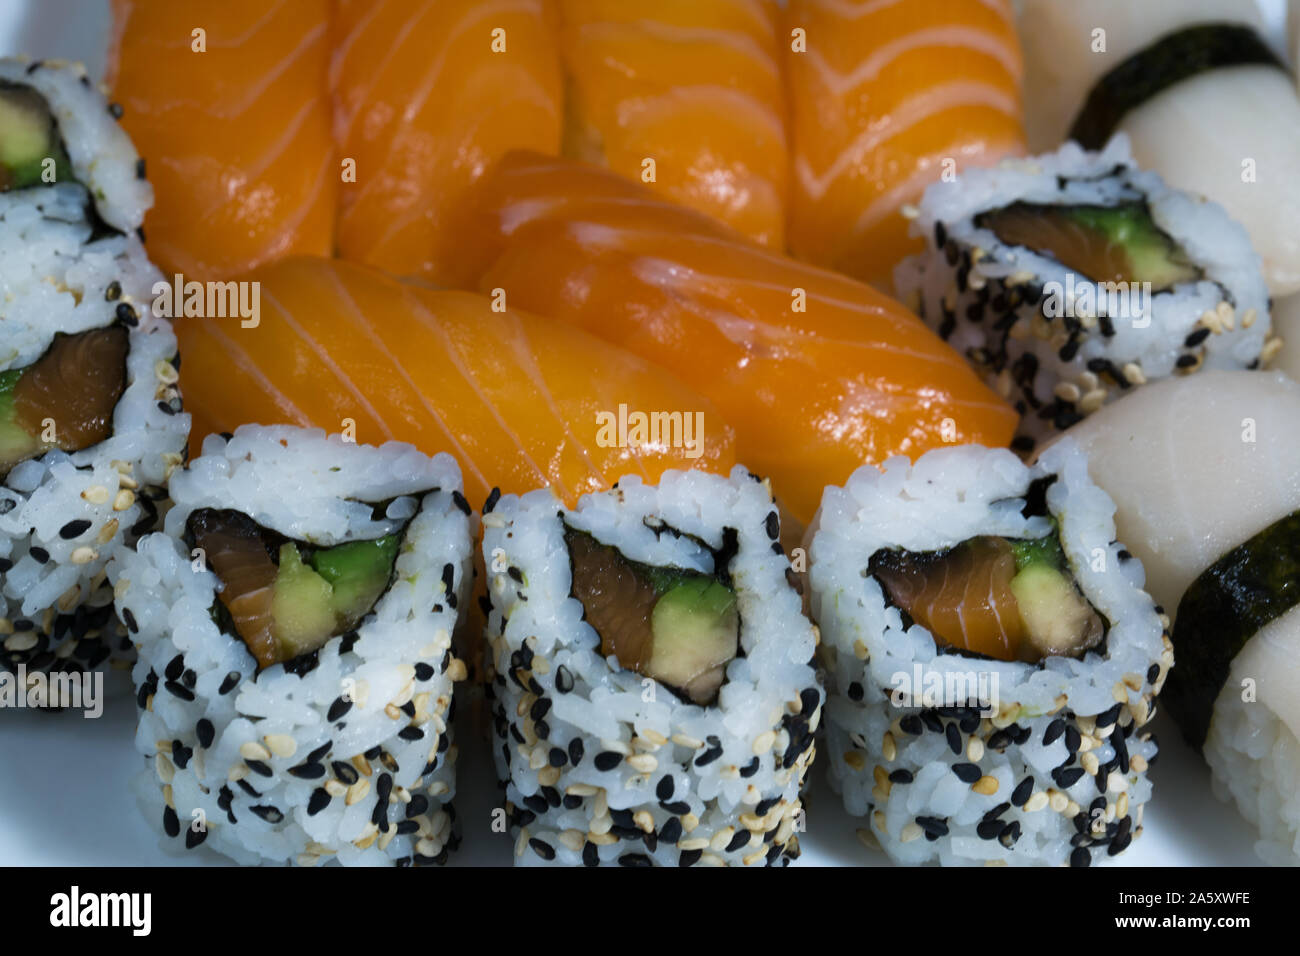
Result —
M 1020 412 L 1018 451 L 1148 381 L 1254 368 L 1280 347 L 1251 241 L 1134 165 L 1066 143 L 926 191 L 900 298 Z

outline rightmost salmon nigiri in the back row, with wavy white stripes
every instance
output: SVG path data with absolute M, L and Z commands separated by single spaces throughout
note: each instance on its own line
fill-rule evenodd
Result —
M 888 287 L 920 251 L 901 208 L 1024 151 L 1010 0 L 790 0 L 794 255 Z

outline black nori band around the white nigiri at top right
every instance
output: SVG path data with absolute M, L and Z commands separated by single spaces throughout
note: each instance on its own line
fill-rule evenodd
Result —
M 1199 23 L 1167 34 L 1096 82 L 1070 127 L 1069 138 L 1086 150 L 1100 150 L 1124 116 L 1156 94 L 1206 70 L 1248 65 L 1275 66 L 1287 72 L 1286 65 L 1248 26 Z

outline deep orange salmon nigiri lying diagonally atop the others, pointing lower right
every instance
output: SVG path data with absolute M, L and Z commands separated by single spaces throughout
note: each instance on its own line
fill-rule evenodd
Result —
M 741 462 L 807 522 L 864 462 L 1004 445 L 1015 414 L 906 308 L 611 173 L 511 153 L 477 191 L 484 290 L 707 395 Z

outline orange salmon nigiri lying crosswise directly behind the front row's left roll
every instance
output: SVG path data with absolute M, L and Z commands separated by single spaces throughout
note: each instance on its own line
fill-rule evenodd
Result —
M 733 433 L 705 398 L 577 329 L 338 260 L 286 259 L 246 278 L 260 282 L 255 326 L 177 320 L 195 449 L 244 423 L 347 433 L 351 421 L 360 442 L 451 453 L 474 503 L 493 486 L 543 485 L 573 503 L 623 475 L 654 483 L 734 462 Z M 656 411 L 697 427 L 653 441 L 634 416 Z

